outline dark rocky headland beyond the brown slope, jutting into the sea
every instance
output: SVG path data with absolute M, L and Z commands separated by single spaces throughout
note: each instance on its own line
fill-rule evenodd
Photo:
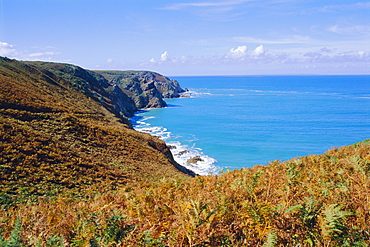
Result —
M 128 123 L 128 118 L 146 108 L 167 106 L 163 98 L 176 98 L 184 90 L 179 83 L 150 71 L 91 71 L 76 65 L 27 62 L 68 80 L 86 96 Z

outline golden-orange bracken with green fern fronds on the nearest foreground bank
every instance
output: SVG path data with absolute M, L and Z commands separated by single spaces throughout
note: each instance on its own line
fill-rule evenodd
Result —
M 368 140 L 220 176 L 166 178 L 85 200 L 45 198 L 0 214 L 2 243 L 369 246 L 369 173 Z

